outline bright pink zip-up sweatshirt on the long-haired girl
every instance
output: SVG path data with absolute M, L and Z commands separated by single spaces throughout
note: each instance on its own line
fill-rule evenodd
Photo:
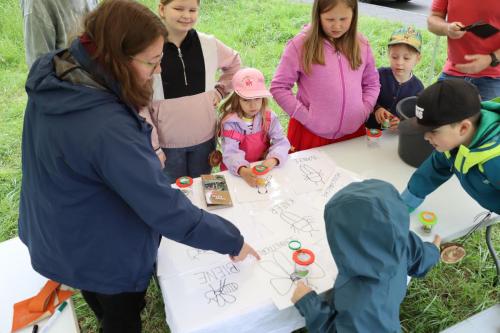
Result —
M 337 139 L 355 132 L 373 111 L 380 91 L 375 60 L 367 39 L 358 34 L 361 66 L 352 70 L 348 59 L 324 41 L 325 65 L 313 64 L 305 74 L 301 65 L 306 26 L 283 52 L 271 94 L 281 108 L 314 134 Z M 297 95 L 292 88 L 297 83 Z

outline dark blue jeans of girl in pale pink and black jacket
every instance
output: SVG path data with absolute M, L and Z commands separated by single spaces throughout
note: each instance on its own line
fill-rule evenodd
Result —
M 172 183 L 182 176 L 196 178 L 212 171 L 212 167 L 208 164 L 208 155 L 215 149 L 214 139 L 191 147 L 162 149 L 167 155 L 163 171 L 170 177 Z

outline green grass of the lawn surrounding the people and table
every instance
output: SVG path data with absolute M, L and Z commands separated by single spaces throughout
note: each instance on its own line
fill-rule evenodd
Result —
M 156 1 L 143 2 L 156 9 Z M 238 50 L 244 64 L 261 69 L 269 83 L 285 43 L 308 22 L 309 11 L 310 5 L 285 0 L 204 0 L 198 29 L 214 34 Z M 27 68 L 19 1 L 2 0 L 0 17 L 0 241 L 3 241 L 17 235 Z M 361 18 L 359 30 L 370 40 L 377 66 L 387 66 L 386 41 L 399 26 Z M 439 41 L 437 61 L 431 68 L 435 38 L 426 31 L 422 33 L 423 55 L 415 73 L 427 85 L 443 65 L 446 44 L 444 39 Z M 274 102 L 271 106 L 286 128 L 288 117 Z M 401 306 L 405 332 L 439 332 L 498 302 L 500 288 L 492 286 L 494 265 L 483 234 L 484 231 L 476 232 L 465 242 L 468 255 L 461 263 L 439 264 L 425 279 L 412 280 Z M 498 248 L 498 227 L 493 240 Z M 95 318 L 81 296 L 77 295 L 75 301 L 83 332 L 97 332 Z M 168 332 L 163 309 L 161 292 L 151 283 L 143 312 L 144 332 Z

